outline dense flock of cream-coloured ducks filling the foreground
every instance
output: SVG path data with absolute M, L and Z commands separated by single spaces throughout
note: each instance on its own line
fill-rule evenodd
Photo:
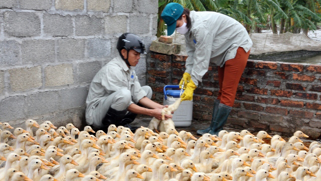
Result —
M 39 125 L 31 119 L 26 130 L 1 126 L 0 181 L 321 180 L 321 145 L 305 147 L 300 138 L 308 136 L 301 131 L 286 142 L 265 131 L 254 136 L 223 130 L 197 139 L 175 128 L 132 133 L 110 125 L 105 133 L 90 126 L 79 131 L 71 123 L 57 129 L 50 121 Z

